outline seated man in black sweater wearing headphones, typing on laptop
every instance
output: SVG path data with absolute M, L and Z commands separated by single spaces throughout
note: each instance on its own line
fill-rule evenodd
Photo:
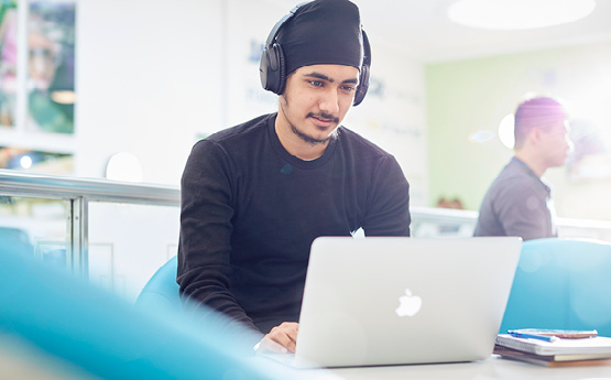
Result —
M 295 350 L 315 238 L 410 235 L 396 160 L 341 126 L 367 93 L 369 52 L 350 1 L 297 6 L 261 57 L 277 112 L 197 142 L 188 158 L 177 283 L 250 327 L 258 347 Z

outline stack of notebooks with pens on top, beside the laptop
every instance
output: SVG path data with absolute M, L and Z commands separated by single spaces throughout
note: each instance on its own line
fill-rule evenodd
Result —
M 541 339 L 500 334 L 494 354 L 546 367 L 611 366 L 611 338 Z

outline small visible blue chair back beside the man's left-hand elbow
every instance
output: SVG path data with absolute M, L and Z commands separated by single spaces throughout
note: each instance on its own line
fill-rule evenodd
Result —
M 144 285 L 135 304 L 138 306 L 151 307 L 153 310 L 179 311 L 181 294 L 176 283 L 176 271 L 178 261 L 174 256 Z

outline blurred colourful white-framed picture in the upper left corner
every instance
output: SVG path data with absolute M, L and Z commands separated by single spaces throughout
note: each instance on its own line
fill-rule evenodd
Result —
M 0 1 L 0 127 L 74 133 L 75 10 L 74 1 Z

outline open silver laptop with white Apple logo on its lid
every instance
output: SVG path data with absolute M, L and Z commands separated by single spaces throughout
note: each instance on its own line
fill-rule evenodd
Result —
M 489 357 L 521 247 L 514 237 L 316 239 L 294 365 Z

